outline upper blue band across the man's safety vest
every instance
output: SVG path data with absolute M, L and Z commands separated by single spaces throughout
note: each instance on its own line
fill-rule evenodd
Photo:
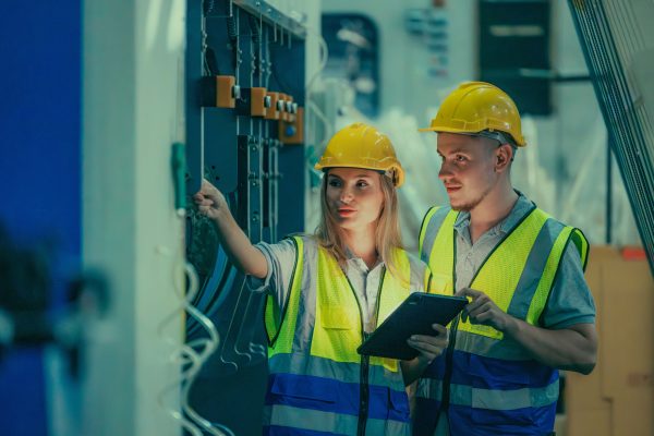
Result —
M 557 370 L 533 360 L 505 361 L 458 350 L 452 354 L 452 365 L 451 383 L 481 389 L 544 388 L 558 378 Z M 444 374 L 445 358 L 441 354 L 427 367 L 423 377 L 443 379 Z

